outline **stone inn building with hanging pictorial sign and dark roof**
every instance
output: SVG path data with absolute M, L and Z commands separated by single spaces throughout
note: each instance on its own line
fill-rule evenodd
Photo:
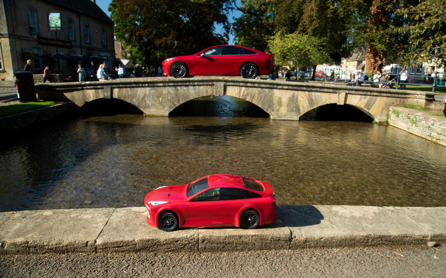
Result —
M 113 21 L 95 0 L 2 0 L 0 5 L 0 85 L 33 61 L 34 75 L 50 66 L 62 78 L 77 77 L 78 64 L 101 60 L 113 65 Z M 56 55 L 59 53 L 59 55 Z M 35 78 L 36 80 L 36 78 Z

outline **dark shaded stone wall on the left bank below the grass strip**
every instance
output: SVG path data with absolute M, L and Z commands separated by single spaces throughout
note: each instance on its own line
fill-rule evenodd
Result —
M 50 107 L 0 117 L 0 132 L 19 131 L 39 124 L 71 116 L 76 109 L 73 103 L 61 103 Z

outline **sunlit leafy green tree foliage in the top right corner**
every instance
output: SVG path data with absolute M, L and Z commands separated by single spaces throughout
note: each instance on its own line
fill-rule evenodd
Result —
M 407 37 L 399 51 L 405 66 L 424 62 L 446 66 L 446 1 L 422 0 L 396 13 L 408 20 L 394 29 L 395 35 Z

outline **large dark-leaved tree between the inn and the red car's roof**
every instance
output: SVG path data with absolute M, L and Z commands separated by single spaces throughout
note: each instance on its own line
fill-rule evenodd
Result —
M 214 24 L 228 25 L 227 12 L 234 0 L 112 0 L 108 10 L 115 35 L 129 48 L 134 62 L 143 62 L 148 36 L 149 53 L 158 64 L 165 57 L 193 54 L 227 42 L 214 33 Z M 161 55 L 158 55 L 161 53 Z M 161 58 L 159 57 L 161 56 Z M 160 60 L 161 59 L 161 60 Z M 150 66 L 150 65 L 149 65 Z

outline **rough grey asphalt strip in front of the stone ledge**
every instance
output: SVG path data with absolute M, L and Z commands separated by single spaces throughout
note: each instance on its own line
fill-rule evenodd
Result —
M 2 278 L 445 278 L 446 247 L 0 256 Z

